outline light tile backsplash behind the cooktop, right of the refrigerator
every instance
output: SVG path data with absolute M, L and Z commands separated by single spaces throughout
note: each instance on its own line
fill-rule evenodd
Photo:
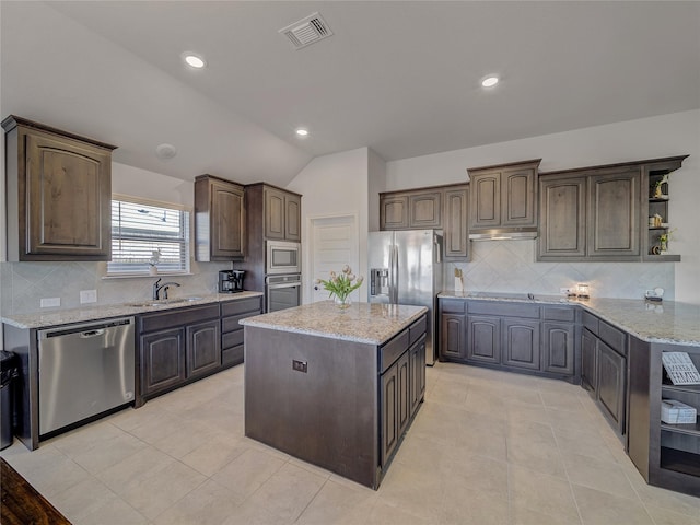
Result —
M 472 242 L 469 262 L 447 264 L 445 289 L 453 289 L 459 268 L 466 291 L 557 295 L 582 282 L 592 298 L 642 299 L 661 287 L 664 299 L 674 299 L 673 262 L 536 262 L 536 249 L 530 240 Z

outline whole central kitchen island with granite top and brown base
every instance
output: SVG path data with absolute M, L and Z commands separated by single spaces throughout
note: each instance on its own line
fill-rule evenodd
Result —
M 248 317 L 245 435 L 377 489 L 425 390 L 423 306 Z

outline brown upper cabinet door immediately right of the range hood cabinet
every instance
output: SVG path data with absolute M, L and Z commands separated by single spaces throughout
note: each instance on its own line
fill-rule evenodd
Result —
M 539 179 L 538 260 L 586 255 L 586 191 L 582 176 Z

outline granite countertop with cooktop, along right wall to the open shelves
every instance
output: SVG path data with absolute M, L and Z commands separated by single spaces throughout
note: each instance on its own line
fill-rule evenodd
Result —
M 563 299 L 559 295 L 488 294 L 486 292 L 444 291 L 446 299 L 479 301 L 516 301 L 533 304 L 579 305 L 607 323 L 648 342 L 700 347 L 700 305 L 674 301 L 651 302 L 635 299 L 588 300 Z

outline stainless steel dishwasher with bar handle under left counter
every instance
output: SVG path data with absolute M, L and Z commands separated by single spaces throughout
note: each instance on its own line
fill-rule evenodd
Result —
M 39 435 L 133 401 L 133 317 L 38 331 Z

